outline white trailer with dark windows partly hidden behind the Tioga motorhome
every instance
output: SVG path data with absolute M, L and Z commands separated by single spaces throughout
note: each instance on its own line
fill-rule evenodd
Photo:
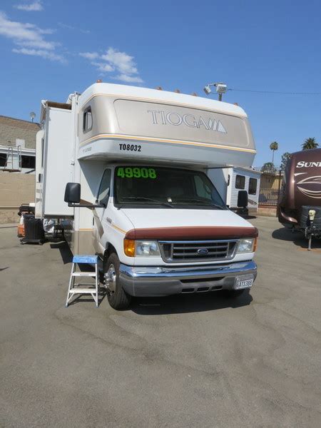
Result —
M 254 214 L 258 212 L 261 173 L 253 168 L 210 168 L 210 180 L 230 210 L 236 213 Z M 241 193 L 248 194 L 248 206 L 242 204 Z

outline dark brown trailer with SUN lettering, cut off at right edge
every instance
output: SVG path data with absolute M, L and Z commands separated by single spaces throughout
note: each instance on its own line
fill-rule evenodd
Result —
M 321 148 L 292 153 L 277 206 L 280 223 L 321 238 Z

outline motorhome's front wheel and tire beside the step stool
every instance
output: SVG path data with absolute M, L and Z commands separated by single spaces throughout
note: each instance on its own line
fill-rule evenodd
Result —
M 104 282 L 106 282 L 107 298 L 109 305 L 116 310 L 127 309 L 131 303 L 128 295 L 119 283 L 119 259 L 116 253 L 112 253 L 103 267 Z

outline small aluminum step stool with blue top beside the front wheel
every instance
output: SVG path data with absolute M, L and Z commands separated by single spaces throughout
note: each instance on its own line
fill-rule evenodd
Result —
M 95 265 L 94 272 L 76 272 L 76 265 L 81 265 L 81 263 L 86 263 L 87 265 Z M 96 302 L 96 307 L 98 307 L 98 294 L 99 294 L 99 276 L 98 276 L 98 255 L 74 255 L 73 256 L 73 265 L 71 267 L 71 275 L 69 280 L 68 294 L 66 300 L 66 307 L 68 307 L 69 302 L 71 301 L 74 295 L 92 295 L 93 300 Z M 95 282 L 91 283 L 77 283 L 75 284 L 75 277 L 93 277 Z M 86 288 L 83 288 L 83 285 L 87 285 Z M 91 288 L 88 288 L 88 285 L 91 285 Z

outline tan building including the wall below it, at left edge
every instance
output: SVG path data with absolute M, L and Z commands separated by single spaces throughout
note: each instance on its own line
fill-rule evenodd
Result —
M 0 224 L 17 223 L 22 203 L 34 202 L 39 123 L 0 116 Z

